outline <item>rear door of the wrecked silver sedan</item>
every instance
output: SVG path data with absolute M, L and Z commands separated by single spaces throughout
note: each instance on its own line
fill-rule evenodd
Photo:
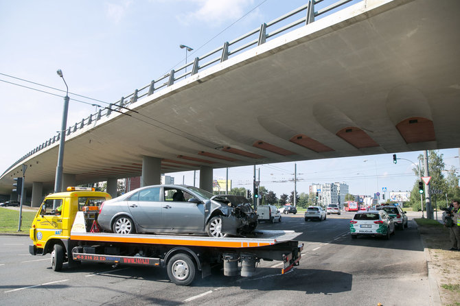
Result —
M 126 200 L 137 225 L 143 228 L 162 228 L 160 201 L 161 187 L 141 189 Z

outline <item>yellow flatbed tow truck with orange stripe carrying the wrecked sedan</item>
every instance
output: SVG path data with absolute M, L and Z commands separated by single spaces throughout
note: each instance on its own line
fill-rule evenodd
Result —
M 82 261 L 167 268 L 176 285 L 190 285 L 198 272 L 209 276 L 222 268 L 225 276 L 253 276 L 256 263 L 283 261 L 281 274 L 299 265 L 303 244 L 295 231 L 260 231 L 251 237 L 203 237 L 201 235 L 150 235 L 101 233 L 99 207 L 108 193 L 84 187 L 46 196 L 38 210 L 29 246 L 32 255 L 51 253 L 51 268 L 59 271 Z M 59 209 L 58 209 L 59 208 Z

